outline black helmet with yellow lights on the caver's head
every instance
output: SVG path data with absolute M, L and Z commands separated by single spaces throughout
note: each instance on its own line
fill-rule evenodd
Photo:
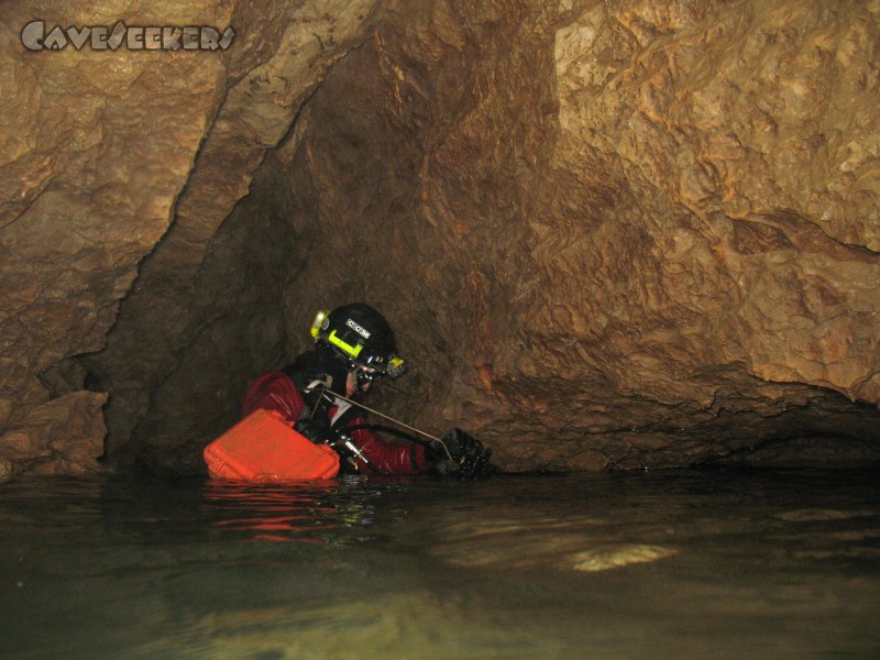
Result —
M 352 302 L 333 311 L 319 311 L 311 324 L 311 336 L 318 343 L 332 346 L 352 369 L 375 370 L 362 372 L 367 381 L 385 375 L 396 378 L 405 371 L 404 361 L 397 356 L 394 330 L 369 305 Z

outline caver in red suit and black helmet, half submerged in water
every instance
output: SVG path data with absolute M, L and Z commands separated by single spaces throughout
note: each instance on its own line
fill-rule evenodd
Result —
M 312 442 L 333 447 L 345 472 L 471 477 L 494 471 L 492 450 L 460 429 L 420 441 L 395 428 L 366 422 L 358 402 L 381 378 L 396 378 L 406 371 L 397 355 L 394 331 L 378 311 L 354 302 L 318 312 L 311 336 L 315 346 L 310 351 L 251 385 L 243 417 L 257 408 L 279 413 Z M 404 441 L 386 442 L 377 428 Z

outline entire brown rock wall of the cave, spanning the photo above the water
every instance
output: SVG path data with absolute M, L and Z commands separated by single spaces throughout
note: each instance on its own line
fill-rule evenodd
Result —
M 877 458 L 876 3 L 139 7 L 0 8 L 0 470 L 105 422 L 200 469 L 354 299 L 411 365 L 373 403 L 508 469 Z M 237 36 L 31 53 L 35 18 Z

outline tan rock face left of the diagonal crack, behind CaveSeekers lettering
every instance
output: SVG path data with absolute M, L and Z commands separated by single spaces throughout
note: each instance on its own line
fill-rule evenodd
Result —
M 67 402 L 74 415 L 79 399 L 62 396 L 72 389 L 51 392 L 40 375 L 103 346 L 138 263 L 170 222 L 223 95 L 219 53 L 23 46 L 21 31 L 35 20 L 44 21 L 46 33 L 112 26 L 120 19 L 140 25 L 229 20 L 211 1 L 185 10 L 153 2 L 91 4 L 0 8 L 0 84 L 10 101 L 0 120 L 0 396 L 14 402 L 8 426 L 32 429 L 32 440 L 40 432 L 33 429 L 57 431 L 58 439 L 43 439 L 50 443 L 64 433 L 42 425 L 41 410 L 61 396 L 52 405 Z M 79 442 L 76 431 L 67 435 L 72 447 Z M 53 460 L 59 471 L 85 464 L 63 451 Z

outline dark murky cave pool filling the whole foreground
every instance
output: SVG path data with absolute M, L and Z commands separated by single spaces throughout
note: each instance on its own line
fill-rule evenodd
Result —
M 877 483 L 14 481 L 0 657 L 880 657 Z

